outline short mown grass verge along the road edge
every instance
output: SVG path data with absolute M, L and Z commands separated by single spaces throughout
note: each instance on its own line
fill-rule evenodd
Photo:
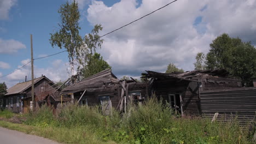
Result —
M 60 127 L 33 127 L 26 124 L 15 124 L 0 121 L 0 126 L 11 130 L 21 131 L 26 134 L 43 136 L 62 143 L 104 143 L 112 144 L 115 142 L 105 142 L 97 139 L 96 135 L 82 127 L 60 128 Z

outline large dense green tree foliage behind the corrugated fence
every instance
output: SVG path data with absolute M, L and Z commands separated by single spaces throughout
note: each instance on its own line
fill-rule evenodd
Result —
M 251 43 L 222 34 L 210 44 L 206 56 L 207 69 L 226 69 L 242 80 L 243 86 L 252 86 L 256 76 L 256 49 Z

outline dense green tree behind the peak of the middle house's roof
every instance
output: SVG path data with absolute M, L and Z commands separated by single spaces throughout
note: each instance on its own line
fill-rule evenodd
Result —
M 94 74 L 100 73 L 102 70 L 108 68 L 111 69 L 110 65 L 106 61 L 104 61 L 100 53 L 95 52 L 94 55 L 92 55 L 89 64 L 85 65 L 85 67 L 82 69 L 81 75 L 86 78 Z

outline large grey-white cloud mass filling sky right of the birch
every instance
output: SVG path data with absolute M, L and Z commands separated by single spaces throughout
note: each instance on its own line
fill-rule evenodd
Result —
M 136 0 L 121 0 L 108 7 L 102 1 L 92 1 L 87 18 L 91 25 L 102 24 L 102 35 L 168 2 L 144 0 L 138 7 Z M 207 53 L 212 40 L 224 32 L 256 40 L 255 7 L 255 1 L 177 1 L 103 37 L 99 51 L 117 75 L 165 71 L 170 62 L 193 70 L 196 53 Z M 195 26 L 200 16 L 202 21 Z

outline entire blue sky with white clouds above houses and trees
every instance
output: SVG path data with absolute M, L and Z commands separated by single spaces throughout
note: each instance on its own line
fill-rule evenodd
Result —
M 71 1 L 71 0 L 68 0 Z M 80 35 L 101 24 L 100 35 L 158 9 L 170 0 L 78 0 Z M 57 31 L 57 10 L 66 0 L 0 0 L 0 77 L 34 58 L 61 52 L 49 43 Z M 256 0 L 178 0 L 144 19 L 103 37 L 96 51 L 112 66 L 117 77 L 138 78 L 144 70 L 165 72 L 168 63 L 193 70 L 198 52 L 207 53 L 212 40 L 223 33 L 256 45 Z M 54 82 L 69 76 L 67 52 L 34 61 L 34 75 Z M 31 79 L 31 65 L 0 78 L 7 87 Z

